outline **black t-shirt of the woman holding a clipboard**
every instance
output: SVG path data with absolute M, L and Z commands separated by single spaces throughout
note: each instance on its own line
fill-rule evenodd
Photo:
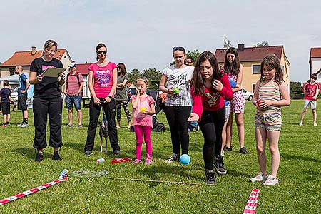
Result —
M 37 75 L 39 75 L 46 68 L 63 68 L 63 64 L 56 58 L 53 58 L 51 61 L 44 61 L 41 57 L 35 58 L 31 63 L 30 72 L 37 72 Z M 44 76 L 42 81 L 34 85 L 34 98 L 50 99 L 60 96 L 58 77 Z

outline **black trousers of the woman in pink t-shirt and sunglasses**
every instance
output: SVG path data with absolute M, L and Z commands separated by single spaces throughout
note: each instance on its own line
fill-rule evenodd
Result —
M 96 128 L 98 123 L 99 114 L 101 113 L 101 108 L 106 115 L 108 123 L 108 133 L 109 141 L 111 141 L 111 148 L 113 151 L 120 150 L 118 145 L 117 128 L 115 122 L 116 116 L 116 101 L 114 98 L 111 99 L 109 103 L 103 103 L 104 99 L 101 100 L 101 105 L 98 106 L 93 102 L 93 98 L 89 103 L 89 126 L 87 131 L 87 141 L 85 145 L 85 151 L 92 151 L 96 136 Z

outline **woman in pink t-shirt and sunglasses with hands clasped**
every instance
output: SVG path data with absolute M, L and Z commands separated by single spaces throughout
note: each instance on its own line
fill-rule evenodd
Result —
M 105 44 L 98 44 L 96 53 L 98 61 L 88 67 L 88 86 L 91 91 L 91 101 L 89 103 L 89 126 L 85 145 L 85 155 L 89 156 L 93 151 L 96 127 L 101 107 L 107 118 L 109 141 L 111 141 L 113 153 L 118 155 L 121 148 L 118 145 L 115 122 L 116 101 L 113 98 L 117 86 L 117 66 L 106 58 L 107 47 Z

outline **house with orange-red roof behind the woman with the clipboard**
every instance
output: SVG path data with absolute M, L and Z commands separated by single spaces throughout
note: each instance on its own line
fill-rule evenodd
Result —
M 35 58 L 41 57 L 42 50 L 37 51 L 35 46 L 31 47 L 31 51 L 16 51 L 4 63 L 0 64 L 0 77 L 14 75 L 16 66 L 22 66 L 24 73 L 29 73 L 31 62 Z M 67 49 L 58 49 L 54 58 L 58 58 L 63 63 L 63 68 L 68 68 L 72 62 L 71 56 L 68 54 Z M 15 87 L 14 84 L 11 87 Z

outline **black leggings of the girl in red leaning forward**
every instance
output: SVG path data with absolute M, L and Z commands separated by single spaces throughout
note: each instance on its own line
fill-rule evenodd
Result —
M 204 137 L 203 159 L 207 170 L 213 170 L 213 158 L 220 155 L 224 120 L 225 106 L 218 111 L 204 110 L 198 123 Z

